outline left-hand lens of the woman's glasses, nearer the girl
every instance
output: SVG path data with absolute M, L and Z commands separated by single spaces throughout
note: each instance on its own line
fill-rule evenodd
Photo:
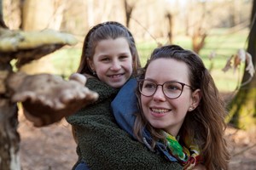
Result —
M 143 80 L 139 83 L 139 90 L 144 96 L 151 96 L 154 94 L 157 84 L 152 81 Z

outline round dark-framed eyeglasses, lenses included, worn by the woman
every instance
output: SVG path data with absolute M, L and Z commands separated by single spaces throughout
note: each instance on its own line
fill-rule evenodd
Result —
M 153 96 L 158 88 L 158 86 L 162 87 L 163 94 L 166 95 L 167 98 L 177 99 L 182 93 L 184 86 L 187 86 L 193 90 L 191 86 L 185 84 L 183 82 L 165 82 L 163 84 L 157 84 L 151 80 L 140 80 L 139 83 L 139 91 L 143 96 L 150 97 Z

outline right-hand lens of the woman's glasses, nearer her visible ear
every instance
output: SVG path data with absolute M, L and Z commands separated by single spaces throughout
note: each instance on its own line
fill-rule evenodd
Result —
M 183 92 L 183 85 L 179 82 L 166 82 L 163 85 L 163 91 L 168 98 L 176 99 Z

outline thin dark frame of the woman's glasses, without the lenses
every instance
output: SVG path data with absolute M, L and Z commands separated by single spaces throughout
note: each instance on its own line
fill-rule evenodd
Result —
M 165 85 L 166 83 L 168 83 L 168 82 L 164 82 L 164 83 L 162 83 L 162 84 L 154 82 L 154 84 L 156 85 L 156 88 L 155 88 L 155 90 L 154 90 L 154 93 L 151 94 L 151 95 L 145 95 L 145 94 L 142 93 L 142 87 L 143 87 L 143 86 L 142 86 L 142 85 L 143 85 L 142 82 L 144 82 L 144 81 L 149 81 L 149 82 L 154 82 L 154 81 L 153 81 L 153 80 L 148 80 L 148 79 L 141 79 L 141 80 L 138 80 L 138 81 L 137 81 L 137 82 L 138 82 L 138 89 L 139 89 L 139 92 L 140 92 L 140 94 L 142 94 L 142 95 L 145 96 L 145 97 L 151 97 L 151 96 L 153 96 L 153 95 L 155 94 L 155 92 L 157 91 L 157 89 L 158 89 L 159 86 L 162 88 L 162 92 L 163 92 L 163 94 L 165 94 L 166 98 L 169 98 L 169 99 L 177 99 L 177 98 L 179 98 L 179 97 L 181 96 L 181 94 L 183 94 L 183 88 L 184 88 L 184 86 L 187 86 L 187 87 L 189 87 L 191 90 L 194 91 L 194 88 L 192 88 L 190 85 L 188 85 L 188 84 L 186 84 L 186 83 L 177 82 L 177 81 L 169 81 L 169 82 L 176 82 L 176 83 L 179 83 L 179 84 L 182 85 L 181 93 L 180 93 L 177 97 L 175 97 L 175 98 L 170 98 L 170 97 L 168 97 L 168 96 L 166 95 L 166 93 L 165 93 L 165 91 L 164 91 L 164 85 Z

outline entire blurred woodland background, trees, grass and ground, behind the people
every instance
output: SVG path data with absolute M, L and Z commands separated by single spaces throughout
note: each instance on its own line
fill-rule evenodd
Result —
M 244 91 L 241 85 L 248 79 L 247 64 L 234 65 L 232 61 L 229 71 L 223 69 L 239 49 L 248 49 L 249 32 L 256 18 L 252 17 L 253 3 L 255 0 L 3 0 L 3 19 L 10 30 L 53 29 L 70 33 L 79 41 L 20 68 L 29 74 L 47 72 L 67 78 L 78 68 L 90 27 L 108 20 L 119 21 L 130 29 L 143 65 L 160 44 L 176 43 L 194 50 L 201 55 L 229 105 L 232 116 L 227 118 L 227 136 L 234 156 L 230 167 L 249 170 L 256 168 L 256 78 L 251 77 L 246 84 L 253 91 Z M 236 98 L 245 101 L 237 103 Z M 19 130 L 24 169 L 71 169 L 77 157 L 67 122 L 34 128 L 20 114 Z

